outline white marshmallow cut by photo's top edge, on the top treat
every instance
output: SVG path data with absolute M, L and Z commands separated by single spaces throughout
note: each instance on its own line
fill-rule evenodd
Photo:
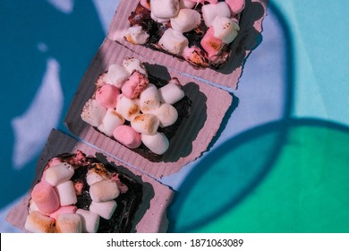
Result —
M 172 18 L 179 12 L 179 0 L 151 0 L 150 10 L 157 18 Z

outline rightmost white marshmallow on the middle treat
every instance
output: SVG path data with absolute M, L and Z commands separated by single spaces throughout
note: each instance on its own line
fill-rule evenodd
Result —
M 161 103 L 168 103 L 173 105 L 175 102 L 182 100 L 184 97 L 184 91 L 182 85 L 178 82 L 178 79 L 171 79 L 165 86 L 158 89 Z

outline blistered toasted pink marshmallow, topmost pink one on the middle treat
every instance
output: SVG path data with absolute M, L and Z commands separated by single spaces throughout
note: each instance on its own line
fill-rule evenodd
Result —
M 130 99 L 134 100 L 140 96 L 140 92 L 143 91 L 149 84 L 149 79 L 146 75 L 140 74 L 138 71 L 134 71 L 131 77 L 123 83 L 121 91 L 123 95 Z

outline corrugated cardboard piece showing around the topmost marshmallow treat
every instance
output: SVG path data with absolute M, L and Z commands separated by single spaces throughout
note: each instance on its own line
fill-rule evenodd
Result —
M 120 1 L 109 26 L 107 39 L 115 40 L 137 54 L 155 60 L 159 65 L 173 68 L 179 73 L 190 74 L 194 78 L 237 89 L 239 78 L 243 73 L 243 64 L 251 50 L 256 48 L 261 40 L 262 22 L 267 14 L 268 0 L 246 0 L 240 22 L 241 30 L 232 44 L 232 55 L 227 64 L 219 70 L 197 68 L 177 57 L 125 41 L 123 34 L 130 27 L 128 17 L 139 2 L 139 0 Z

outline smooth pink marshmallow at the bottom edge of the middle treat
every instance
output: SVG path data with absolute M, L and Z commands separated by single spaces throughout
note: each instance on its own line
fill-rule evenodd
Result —
M 124 146 L 134 149 L 140 146 L 140 134 L 137 133 L 130 125 L 120 125 L 114 131 L 115 140 Z

